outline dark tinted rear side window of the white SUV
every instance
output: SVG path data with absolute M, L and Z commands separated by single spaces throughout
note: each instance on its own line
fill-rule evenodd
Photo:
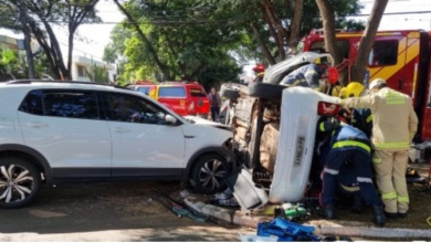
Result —
M 56 117 L 99 118 L 96 93 L 87 91 L 32 91 L 20 110 Z

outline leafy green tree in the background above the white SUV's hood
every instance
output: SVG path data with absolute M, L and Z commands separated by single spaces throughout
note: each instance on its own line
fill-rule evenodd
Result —
M 229 60 L 233 60 L 230 50 L 241 40 L 241 33 L 230 12 L 217 8 L 216 1 L 114 2 L 126 17 L 122 25 L 132 35 L 123 41 L 124 47 L 116 46 L 114 40 L 114 45 L 105 50 L 105 57 L 120 51 L 118 54 L 127 59 L 126 70 L 151 73 L 159 81 L 197 80 L 222 64 L 239 70 Z

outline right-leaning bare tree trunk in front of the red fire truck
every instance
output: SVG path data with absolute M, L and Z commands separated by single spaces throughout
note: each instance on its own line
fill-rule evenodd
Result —
M 355 64 L 351 67 L 351 80 L 364 83 L 365 73 L 368 65 L 368 56 L 375 42 L 375 36 L 379 28 L 381 18 L 383 15 L 388 0 L 375 1 L 372 6 L 371 14 L 368 19 L 362 38 L 359 42 L 358 54 L 355 60 Z

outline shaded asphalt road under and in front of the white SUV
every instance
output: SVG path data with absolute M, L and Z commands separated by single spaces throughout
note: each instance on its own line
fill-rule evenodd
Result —
M 254 229 L 178 218 L 157 192 L 178 182 L 115 181 L 43 187 L 27 208 L 0 210 L 4 241 L 240 241 Z

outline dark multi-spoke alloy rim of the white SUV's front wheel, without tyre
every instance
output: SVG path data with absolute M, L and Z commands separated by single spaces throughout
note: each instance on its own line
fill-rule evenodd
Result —
M 220 188 L 221 182 L 225 177 L 227 170 L 223 163 L 217 159 L 207 161 L 199 175 L 202 187 L 211 190 Z

